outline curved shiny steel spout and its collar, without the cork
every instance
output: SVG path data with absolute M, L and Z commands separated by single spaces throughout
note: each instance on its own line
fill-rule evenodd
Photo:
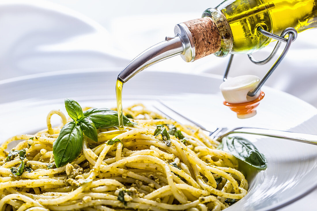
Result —
M 175 37 L 166 37 L 165 41 L 153 45 L 135 57 L 118 75 L 118 80 L 125 83 L 146 67 L 175 55 L 181 54 L 185 61 L 193 61 L 195 46 L 191 32 L 183 23 L 177 24 L 174 31 Z

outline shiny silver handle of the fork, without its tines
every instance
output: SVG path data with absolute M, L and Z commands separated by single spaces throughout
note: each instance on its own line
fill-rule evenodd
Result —
M 219 138 L 222 138 L 232 133 L 245 133 L 245 134 L 253 134 L 253 135 L 260 135 L 260 136 L 268 136 L 268 137 L 282 138 L 282 139 L 288 139 L 292 141 L 298 141 L 302 143 L 317 145 L 317 135 L 290 132 L 290 131 L 262 129 L 262 128 L 250 128 L 250 127 L 234 128 L 233 130 L 228 131 L 227 133 L 223 134 Z

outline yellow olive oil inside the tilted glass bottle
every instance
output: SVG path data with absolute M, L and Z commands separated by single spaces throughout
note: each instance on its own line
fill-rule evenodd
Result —
M 298 32 L 317 27 L 317 0 L 227 0 L 217 9 L 226 16 L 233 37 L 230 53 L 252 53 L 274 41 L 257 32 L 262 26 L 281 35 L 293 27 Z M 314 39 L 314 38 L 312 38 Z

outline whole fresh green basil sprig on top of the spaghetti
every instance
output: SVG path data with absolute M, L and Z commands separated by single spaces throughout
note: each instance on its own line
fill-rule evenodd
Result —
M 66 123 L 53 144 L 56 167 L 72 162 L 82 149 L 83 135 L 98 141 L 97 129 L 119 127 L 118 113 L 108 108 L 91 108 L 83 112 L 81 106 L 73 99 L 65 99 L 65 108 L 74 121 Z M 123 125 L 136 125 L 123 116 Z

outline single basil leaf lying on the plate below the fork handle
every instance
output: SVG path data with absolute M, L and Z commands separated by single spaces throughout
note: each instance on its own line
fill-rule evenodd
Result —
M 255 145 L 242 137 L 223 137 L 222 144 L 218 149 L 230 152 L 234 157 L 256 168 L 265 169 L 267 166 L 265 156 L 259 152 Z

